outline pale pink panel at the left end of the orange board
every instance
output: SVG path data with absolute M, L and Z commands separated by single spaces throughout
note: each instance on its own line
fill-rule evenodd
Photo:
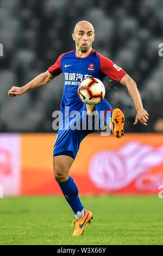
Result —
M 5 195 L 19 195 L 21 182 L 20 135 L 0 135 L 0 185 Z

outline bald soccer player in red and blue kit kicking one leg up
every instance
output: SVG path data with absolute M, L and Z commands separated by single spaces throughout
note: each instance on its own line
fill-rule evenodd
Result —
M 117 138 L 121 138 L 124 124 L 122 111 L 115 109 L 112 112 L 111 105 L 105 99 L 96 105 L 84 104 L 78 97 L 77 84 L 79 83 L 76 84 L 76 82 L 81 82 L 86 78 L 98 78 L 103 82 L 105 76 L 108 75 L 116 82 L 127 86 L 137 111 L 134 124 L 140 121 L 147 126 L 148 113 L 143 109 L 141 97 L 133 79 L 110 59 L 105 58 L 92 49 L 92 42 L 95 39 L 94 32 L 94 28 L 90 22 L 78 22 L 72 34 L 72 38 L 76 43 L 76 50 L 63 53 L 45 73 L 40 74 L 23 87 L 13 86 L 8 94 L 13 97 L 42 87 L 63 72 L 65 77 L 64 92 L 61 100 L 61 112 L 63 116 L 65 116 L 65 106 L 69 108 L 67 110 L 69 112 L 76 110 L 82 113 L 82 111 L 86 110 L 87 116 L 90 116 L 95 110 L 98 114 L 100 111 L 104 111 L 104 121 L 108 124 L 110 123 L 112 133 Z M 111 122 L 109 118 L 107 118 L 108 115 L 106 115 L 108 111 L 111 112 Z M 81 119 L 82 118 L 83 117 L 81 117 Z M 93 131 L 59 128 L 54 145 L 54 178 L 58 182 L 65 199 L 71 206 L 75 215 L 75 219 L 72 223 L 75 227 L 73 236 L 82 235 L 85 225 L 89 223 L 92 218 L 92 213 L 84 209 L 78 197 L 76 183 L 74 183 L 73 178 L 69 175 L 71 165 L 79 150 L 80 142 L 91 132 Z

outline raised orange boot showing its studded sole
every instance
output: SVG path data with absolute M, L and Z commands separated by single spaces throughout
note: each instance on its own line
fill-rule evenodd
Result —
M 124 135 L 124 115 L 120 109 L 114 109 L 112 118 L 110 119 L 111 130 L 116 138 L 121 138 Z

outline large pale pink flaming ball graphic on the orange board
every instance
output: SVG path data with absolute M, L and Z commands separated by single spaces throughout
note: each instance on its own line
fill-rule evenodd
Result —
M 89 164 L 89 176 L 96 187 L 118 190 L 135 178 L 163 163 L 163 145 L 154 148 L 131 141 L 117 151 L 104 150 L 94 154 Z M 141 186 L 137 181 L 136 186 Z

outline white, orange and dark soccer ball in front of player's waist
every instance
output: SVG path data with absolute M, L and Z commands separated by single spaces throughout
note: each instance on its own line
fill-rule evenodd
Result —
M 105 87 L 97 78 L 87 78 L 78 87 L 78 96 L 88 105 L 95 105 L 102 101 L 105 96 Z

